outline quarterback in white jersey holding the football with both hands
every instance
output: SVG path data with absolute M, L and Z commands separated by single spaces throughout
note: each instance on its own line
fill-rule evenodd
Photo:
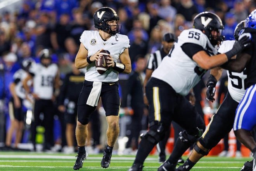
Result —
M 107 147 L 104 149 L 101 166 L 109 167 L 112 149 L 119 135 L 119 106 L 118 74 L 131 72 L 131 60 L 128 53 L 130 42 L 127 36 L 118 34 L 119 17 L 116 11 L 109 7 L 98 9 L 93 21 L 96 31 L 84 31 L 80 37 L 80 48 L 76 55 L 75 66 L 78 69 L 86 68 L 85 81 L 78 98 L 78 119 L 76 125 L 76 140 L 78 143 L 78 155 L 74 164 L 74 170 L 83 166 L 87 157 L 85 150 L 88 136 L 87 125 L 90 115 L 102 99 L 106 111 Z M 109 52 L 107 62 L 109 70 L 99 74 L 95 67 L 102 50 Z

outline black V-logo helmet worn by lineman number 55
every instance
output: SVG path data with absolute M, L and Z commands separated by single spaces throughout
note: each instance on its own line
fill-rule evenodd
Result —
M 217 45 L 218 42 L 223 41 L 223 36 L 214 36 L 211 34 L 211 31 L 218 31 L 218 33 L 222 33 L 224 26 L 220 17 L 212 12 L 201 12 L 197 14 L 194 18 L 193 28 L 204 31 L 204 34 L 208 37 L 212 45 Z

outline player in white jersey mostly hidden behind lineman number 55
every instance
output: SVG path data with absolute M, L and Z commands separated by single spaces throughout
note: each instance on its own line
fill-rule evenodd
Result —
M 244 28 L 245 21 L 241 21 L 239 24 L 237 24 L 235 31 L 234 31 L 234 37 L 235 40 L 238 40 L 238 34 L 242 28 Z M 219 53 L 225 53 L 228 50 L 230 50 L 235 40 L 226 40 L 221 43 L 221 45 L 218 48 Z M 234 62 L 237 62 L 237 60 L 234 60 Z M 239 65 L 239 63 L 236 63 Z M 240 66 L 240 65 L 239 65 Z M 230 68 L 230 70 L 235 70 L 239 68 L 234 68 L 235 65 L 230 60 L 229 66 L 222 65 L 224 68 Z M 220 67 L 216 67 L 214 69 L 211 69 L 211 75 L 209 76 L 207 86 L 208 89 L 206 91 L 207 99 L 210 101 L 214 101 L 214 92 L 215 92 L 215 86 L 217 83 L 217 79 L 220 79 L 222 73 L 222 69 Z M 204 155 L 207 155 L 208 152 L 215 147 L 218 142 L 227 134 L 230 132 L 230 130 L 233 128 L 234 119 L 235 119 L 235 110 L 237 109 L 237 105 L 239 104 L 240 100 L 242 100 L 244 93 L 246 92 L 245 89 L 245 80 L 247 78 L 246 69 L 244 71 L 237 73 L 227 70 L 228 75 L 228 93 L 223 100 L 223 103 L 218 108 L 216 114 L 213 115 L 211 118 L 211 122 L 208 125 L 207 130 L 203 133 L 199 141 L 195 144 L 194 149 L 192 150 L 192 153 L 189 155 L 189 158 L 187 161 L 177 168 L 178 171 L 189 171 L 194 164 L 201 159 Z M 246 166 L 244 166 L 244 169 L 242 171 L 249 171 L 248 167 L 250 164 L 247 163 Z M 252 164 L 251 164 L 252 169 Z

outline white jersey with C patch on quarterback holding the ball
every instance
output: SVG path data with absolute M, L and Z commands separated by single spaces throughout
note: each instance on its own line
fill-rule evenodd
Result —
M 108 50 L 114 62 L 119 62 L 119 56 L 126 48 L 130 47 L 130 40 L 127 36 L 116 34 L 111 36 L 107 41 L 102 40 L 99 31 L 84 31 L 80 37 L 80 42 L 83 43 L 88 50 L 88 56 L 92 56 L 100 49 Z M 100 82 L 115 82 L 118 81 L 118 71 L 112 69 L 104 74 L 99 74 L 95 62 L 92 62 L 86 67 L 85 79 L 87 81 Z

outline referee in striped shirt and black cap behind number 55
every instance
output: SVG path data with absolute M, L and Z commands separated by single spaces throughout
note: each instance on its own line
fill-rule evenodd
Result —
M 162 62 L 162 59 L 169 53 L 169 51 L 174 45 L 174 42 L 175 42 L 175 36 L 172 33 L 164 34 L 162 39 L 161 49 L 150 54 L 149 56 L 149 59 L 147 61 L 146 76 L 145 76 L 144 87 L 143 87 L 144 88 L 143 98 L 144 98 L 145 105 L 149 105 L 149 102 L 145 94 L 145 86 L 147 84 L 147 81 L 151 77 L 153 71 L 160 65 L 160 63 Z M 166 159 L 165 145 L 169 136 L 170 136 L 170 130 L 166 132 L 164 139 L 159 143 L 157 143 L 157 151 L 159 153 L 159 162 L 164 162 Z

